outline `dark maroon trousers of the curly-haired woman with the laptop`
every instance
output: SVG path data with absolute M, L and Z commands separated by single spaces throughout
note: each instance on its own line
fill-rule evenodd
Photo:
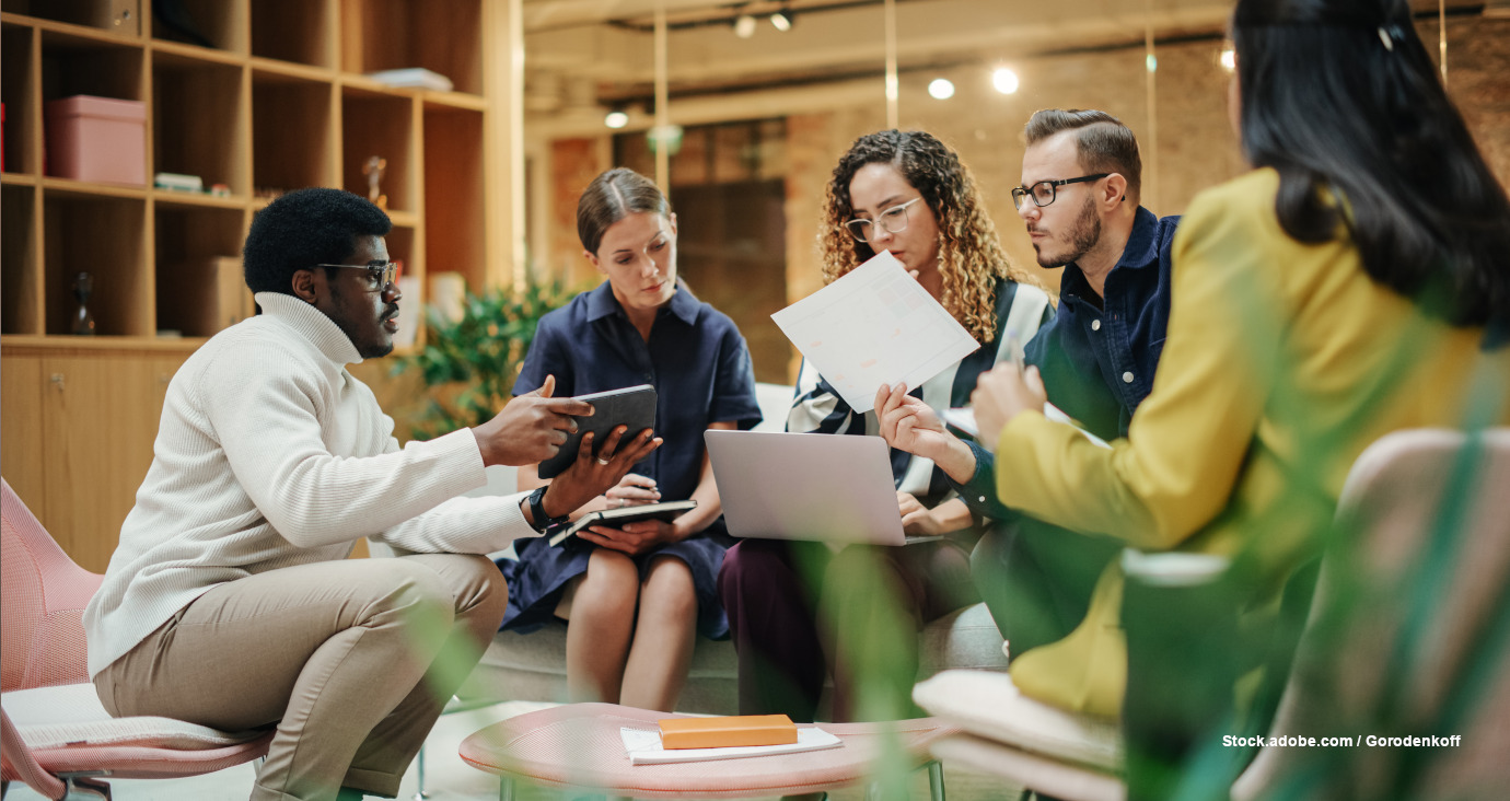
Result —
M 918 632 L 978 595 L 951 540 L 901 547 L 743 540 L 719 595 L 738 651 L 741 715 L 812 721 L 834 676 L 832 718 L 917 715 Z

